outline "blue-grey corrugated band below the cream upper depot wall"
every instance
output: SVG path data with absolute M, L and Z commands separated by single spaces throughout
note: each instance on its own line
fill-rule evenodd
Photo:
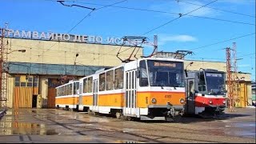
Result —
M 77 75 L 94 74 L 107 66 L 58 65 L 45 63 L 8 62 L 10 74 Z

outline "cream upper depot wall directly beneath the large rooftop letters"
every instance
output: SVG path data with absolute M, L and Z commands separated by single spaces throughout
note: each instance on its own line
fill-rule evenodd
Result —
M 86 66 L 117 66 L 121 61 L 116 57 L 121 46 L 88 44 L 77 42 L 54 42 L 31 39 L 10 38 L 11 50 L 26 50 L 25 53 L 12 52 L 9 62 L 32 62 L 47 64 L 74 65 L 76 54 L 77 65 Z M 126 50 L 126 51 L 124 51 Z M 122 46 L 120 57 L 128 58 L 133 51 L 130 46 Z M 134 54 L 133 54 L 134 55 Z M 137 57 L 142 55 L 138 50 Z

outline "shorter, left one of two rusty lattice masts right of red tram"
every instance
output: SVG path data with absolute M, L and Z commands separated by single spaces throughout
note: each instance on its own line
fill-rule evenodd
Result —
M 234 106 L 234 93 L 232 86 L 232 72 L 231 72 L 231 58 L 230 58 L 230 47 L 226 48 L 226 81 L 227 81 L 227 97 L 229 111 L 233 111 Z

